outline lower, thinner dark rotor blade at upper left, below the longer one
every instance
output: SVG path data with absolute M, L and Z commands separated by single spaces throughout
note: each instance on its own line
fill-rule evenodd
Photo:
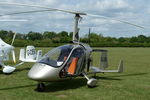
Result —
M 24 12 L 14 12 L 14 13 L 2 14 L 2 15 L 0 15 L 0 17 L 7 16 L 7 15 L 17 15 L 17 14 L 45 12 L 45 11 L 54 11 L 54 10 L 33 10 L 33 11 L 24 11 Z

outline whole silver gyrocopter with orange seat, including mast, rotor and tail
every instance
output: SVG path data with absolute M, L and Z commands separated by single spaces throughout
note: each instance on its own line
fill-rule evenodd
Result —
M 95 87 L 97 79 L 89 78 L 89 74 L 105 73 L 105 72 L 123 72 L 123 61 L 121 60 L 117 70 L 106 70 L 108 67 L 107 50 L 92 49 L 89 45 L 81 43 L 79 40 L 79 21 L 81 16 L 92 16 L 98 18 L 105 18 L 110 20 L 119 21 L 135 27 L 143 28 L 142 26 L 132 24 L 119 19 L 113 19 L 101 15 L 93 15 L 76 11 L 68 11 L 63 9 L 55 9 L 43 7 L 39 5 L 28 5 L 18 3 L 0 3 L 1 5 L 16 5 L 41 8 L 41 10 L 14 12 L 3 14 L 16 15 L 22 13 L 44 12 L 44 11 L 59 11 L 74 14 L 74 30 L 72 43 L 56 47 L 46 53 L 40 60 L 38 60 L 28 72 L 28 77 L 38 82 L 37 90 L 44 91 L 44 82 L 53 82 L 59 80 L 72 79 L 78 76 L 83 76 L 87 79 L 88 87 Z M 101 52 L 100 68 L 94 67 L 92 63 L 92 52 Z

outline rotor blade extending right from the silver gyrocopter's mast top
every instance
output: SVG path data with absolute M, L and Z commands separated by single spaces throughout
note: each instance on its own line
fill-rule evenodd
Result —
M 128 24 L 128 25 L 131 25 L 131 26 L 135 26 L 135 27 L 138 27 L 138 28 L 145 29 L 145 27 L 143 27 L 143 26 L 136 25 L 136 24 L 133 24 L 133 23 L 130 23 L 130 22 L 127 22 L 127 21 L 120 20 L 120 19 L 110 18 L 110 17 L 106 17 L 106 16 L 102 16 L 102 15 L 94 15 L 94 14 L 87 14 L 87 16 L 114 20 L 114 21 L 118 21 L 118 22 L 121 22 L 121 23 L 124 23 L 124 24 Z

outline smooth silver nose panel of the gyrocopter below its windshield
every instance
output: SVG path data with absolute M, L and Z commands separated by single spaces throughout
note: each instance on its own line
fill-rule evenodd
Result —
M 59 72 L 62 67 L 55 68 L 46 64 L 36 63 L 28 73 L 28 77 L 35 81 L 47 82 L 60 80 Z

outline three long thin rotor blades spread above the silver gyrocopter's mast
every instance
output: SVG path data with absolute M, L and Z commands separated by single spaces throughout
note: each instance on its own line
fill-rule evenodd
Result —
M 94 14 L 88 14 L 88 13 L 84 13 L 84 12 L 77 12 L 77 11 L 70 11 L 70 10 L 64 10 L 64 9 L 44 7 L 44 6 L 40 6 L 40 5 L 28 5 L 28 4 L 8 3 L 8 2 L 0 2 L 0 4 L 1 5 L 16 5 L 16 6 L 25 6 L 25 7 L 34 7 L 34 8 L 47 9 L 47 10 L 36 10 L 36 11 L 9 13 L 9 14 L 3 14 L 3 15 L 0 15 L 0 16 L 15 15 L 15 14 L 22 14 L 22 13 L 43 12 L 43 11 L 60 11 L 60 12 L 66 12 L 66 13 L 71 13 L 71 14 L 75 14 L 75 15 L 87 15 L 87 16 L 91 16 L 91 17 L 115 20 L 115 21 L 118 21 L 118 22 L 121 22 L 121 23 L 124 23 L 124 24 L 128 24 L 128 25 L 131 25 L 131 26 L 135 26 L 135 27 L 144 29 L 143 26 L 136 25 L 136 24 L 133 24 L 133 23 L 130 23 L 130 22 L 127 22 L 127 21 L 120 20 L 120 19 L 106 17 L 106 16 L 103 16 L 103 15 L 94 15 Z

